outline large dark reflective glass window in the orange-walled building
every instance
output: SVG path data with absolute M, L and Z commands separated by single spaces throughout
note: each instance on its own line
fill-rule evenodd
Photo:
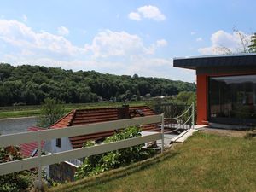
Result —
M 209 119 L 256 119 L 256 75 L 211 77 Z

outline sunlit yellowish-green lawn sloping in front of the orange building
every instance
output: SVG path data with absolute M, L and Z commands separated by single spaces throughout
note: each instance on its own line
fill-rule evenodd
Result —
M 164 155 L 50 191 L 256 191 L 256 137 L 198 132 Z

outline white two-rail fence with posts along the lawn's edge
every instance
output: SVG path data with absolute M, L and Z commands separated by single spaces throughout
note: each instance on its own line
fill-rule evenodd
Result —
M 147 124 L 161 124 L 161 132 L 153 133 L 152 135 L 134 137 L 125 139 L 119 142 L 107 143 L 88 148 L 78 148 L 73 150 L 62 151 L 55 154 L 42 155 L 41 141 L 51 140 L 61 137 L 74 137 L 79 135 L 87 135 L 101 131 L 110 131 L 123 129 L 129 126 L 147 125 Z M 117 150 L 120 148 L 129 148 L 142 143 L 148 143 L 156 140 L 161 140 L 161 152 L 164 150 L 164 115 L 153 115 L 148 117 L 122 119 L 115 121 L 108 121 L 103 123 L 96 123 L 90 125 L 77 125 L 64 129 L 51 129 L 45 131 L 32 131 L 17 134 L 0 136 L 0 148 L 10 145 L 19 145 L 21 143 L 38 142 L 38 156 L 23 160 L 15 160 L 0 164 L 0 176 L 12 172 L 20 172 L 38 167 L 38 187 L 41 187 L 42 181 L 42 166 L 48 166 L 66 160 L 74 160 L 77 158 L 88 157 L 94 154 L 102 154 L 105 152 Z

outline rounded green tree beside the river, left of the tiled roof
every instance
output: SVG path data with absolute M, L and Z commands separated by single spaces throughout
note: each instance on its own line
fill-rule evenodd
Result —
M 49 128 L 50 125 L 53 125 L 65 114 L 64 109 L 63 102 L 51 98 L 44 99 L 44 103 L 40 108 L 38 125 Z

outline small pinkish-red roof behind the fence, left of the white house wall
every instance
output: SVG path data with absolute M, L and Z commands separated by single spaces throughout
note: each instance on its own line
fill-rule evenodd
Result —
M 32 126 L 27 128 L 27 131 L 41 131 L 44 130 L 43 128 Z M 41 142 L 41 148 L 44 148 L 44 141 Z M 38 148 L 38 143 L 37 142 L 32 142 L 32 143 L 23 143 L 20 145 L 20 151 L 21 154 L 25 157 L 30 157 L 32 152 Z M 36 154 L 38 155 L 38 153 Z

